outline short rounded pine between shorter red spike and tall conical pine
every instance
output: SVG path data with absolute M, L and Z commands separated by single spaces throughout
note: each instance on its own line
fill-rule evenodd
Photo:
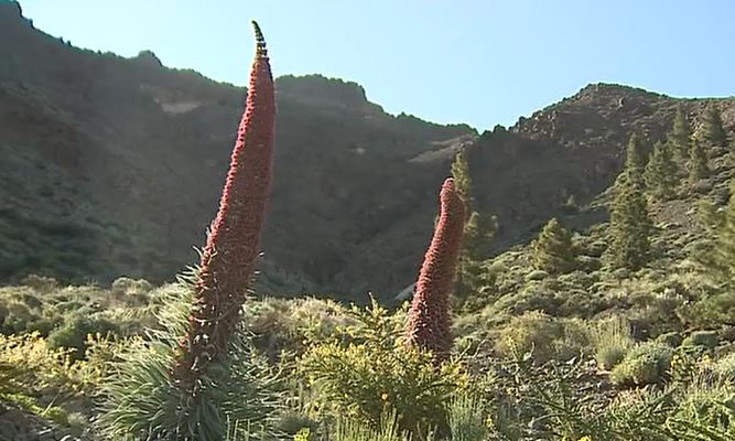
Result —
M 559 275 L 573 270 L 574 259 L 572 234 L 552 218 L 531 246 L 533 266 L 550 275 Z

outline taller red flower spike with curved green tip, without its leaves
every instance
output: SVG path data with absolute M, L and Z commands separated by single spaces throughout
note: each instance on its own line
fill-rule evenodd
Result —
M 174 375 L 191 387 L 207 363 L 227 351 L 256 269 L 273 163 L 275 94 L 258 23 L 248 100 L 219 211 L 202 254 L 201 273 Z

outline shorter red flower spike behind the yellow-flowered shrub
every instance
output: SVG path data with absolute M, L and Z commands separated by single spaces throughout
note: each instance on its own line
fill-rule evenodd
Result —
M 406 343 L 431 351 L 435 362 L 446 359 L 452 349 L 450 294 L 465 218 L 464 203 L 453 179 L 444 181 L 440 201 L 439 223 L 421 266 L 404 331 Z

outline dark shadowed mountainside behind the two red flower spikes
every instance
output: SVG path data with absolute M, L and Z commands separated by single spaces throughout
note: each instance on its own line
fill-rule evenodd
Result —
M 0 8 L 0 277 L 172 279 L 204 243 L 246 90 L 162 67 L 150 52 L 126 60 L 72 47 L 33 29 L 15 3 Z M 370 265 L 392 262 L 394 279 L 366 279 L 403 283 L 442 178 L 436 164 L 407 161 L 474 131 L 390 116 L 354 83 L 284 77 L 277 87 L 260 281 L 345 290 L 347 262 L 372 252 Z M 410 256 L 377 250 L 380 234 L 404 224 Z

